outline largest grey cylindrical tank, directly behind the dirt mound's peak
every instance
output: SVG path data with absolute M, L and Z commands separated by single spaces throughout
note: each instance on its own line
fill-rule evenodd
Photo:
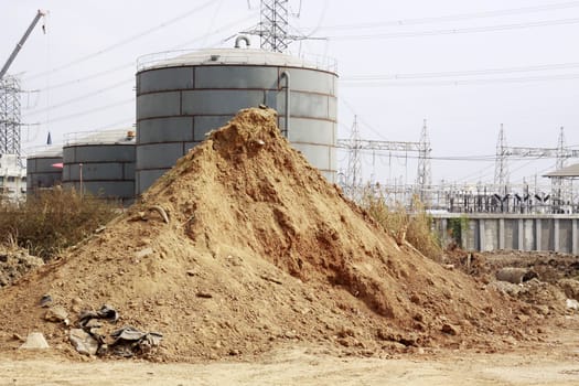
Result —
M 278 111 L 278 126 L 292 146 L 334 182 L 336 85 L 335 63 L 261 50 L 204 50 L 139 58 L 136 193 L 147 190 L 206 132 L 238 110 L 259 105 Z

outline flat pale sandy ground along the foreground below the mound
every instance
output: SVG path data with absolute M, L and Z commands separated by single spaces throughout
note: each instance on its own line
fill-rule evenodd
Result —
M 436 350 L 390 358 L 294 346 L 251 362 L 63 362 L 50 352 L 0 356 L 0 385 L 578 385 L 579 317 L 536 346 L 502 353 Z M 492 350 L 491 350 L 492 351 Z

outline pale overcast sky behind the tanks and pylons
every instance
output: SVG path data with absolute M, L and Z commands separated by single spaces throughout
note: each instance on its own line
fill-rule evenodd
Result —
M 291 52 L 337 62 L 340 138 L 356 115 L 365 139 L 418 141 L 427 119 L 435 184 L 492 182 L 501 124 L 508 146 L 556 148 L 565 127 L 567 144 L 579 148 L 579 1 L 290 4 L 296 33 L 324 37 Z M 227 37 L 259 22 L 256 0 L 0 0 L 0 64 L 37 9 L 50 11 L 47 32 L 39 25 L 9 71 L 37 90 L 22 97 L 23 121 L 37 124 L 22 132 L 29 151 L 49 130 L 62 142 L 65 133 L 131 126 L 139 56 L 233 46 Z M 364 174 L 411 183 L 415 157 L 367 154 Z M 540 175 L 554 165 L 511 160 L 511 181 L 546 183 Z

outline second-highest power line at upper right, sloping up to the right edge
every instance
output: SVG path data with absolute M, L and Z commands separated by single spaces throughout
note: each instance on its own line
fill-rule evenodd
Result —
M 332 41 L 418 37 L 418 36 L 436 36 L 436 35 L 454 35 L 454 34 L 463 34 L 463 33 L 510 31 L 510 30 L 517 30 L 517 29 L 530 29 L 530 28 L 551 26 L 551 25 L 571 25 L 571 24 L 577 24 L 577 23 L 579 23 L 579 18 L 535 21 L 535 22 L 525 22 L 525 23 L 486 25 L 486 26 L 470 26 L 470 28 L 461 28 L 461 29 L 416 31 L 416 32 L 373 33 L 373 34 L 364 34 L 364 35 L 333 35 L 333 36 L 330 35 L 325 37 Z

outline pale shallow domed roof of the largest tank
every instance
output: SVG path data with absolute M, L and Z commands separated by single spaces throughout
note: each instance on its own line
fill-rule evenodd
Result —
M 187 65 L 267 65 L 302 67 L 335 73 L 335 60 L 326 56 L 302 57 L 255 49 L 211 49 L 200 51 L 167 51 L 143 55 L 137 61 L 137 72 Z

